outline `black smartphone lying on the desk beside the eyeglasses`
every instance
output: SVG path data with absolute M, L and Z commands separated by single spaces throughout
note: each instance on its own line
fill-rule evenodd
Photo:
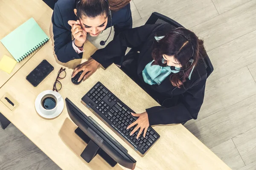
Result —
M 53 70 L 53 66 L 44 59 L 33 71 L 27 75 L 26 79 L 34 86 L 38 86 L 45 77 Z

